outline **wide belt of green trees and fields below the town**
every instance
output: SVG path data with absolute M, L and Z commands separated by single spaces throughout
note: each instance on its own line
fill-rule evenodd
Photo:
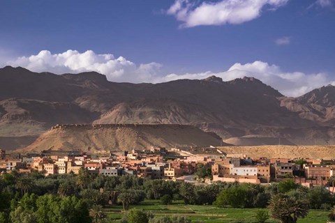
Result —
M 155 201 L 155 205 L 146 206 L 148 199 Z M 114 205 L 112 208 L 108 208 L 109 202 Z M 321 214 L 325 220 L 329 215 L 331 220 L 331 215 L 335 216 L 334 208 L 332 212 L 329 210 L 334 205 L 334 196 L 324 187 L 308 189 L 291 179 L 272 185 L 220 182 L 193 185 L 135 176 L 91 175 L 86 169 L 82 169 L 77 176 L 45 177 L 38 173 L 18 174 L 13 171 L 0 178 L 0 223 L 103 223 L 111 222 L 111 217 L 119 221 L 124 212 L 127 214 L 123 222 L 131 222 L 133 215 L 137 216 L 137 220 L 151 223 L 211 222 L 209 215 L 230 215 L 238 210 L 233 208 L 244 208 L 240 213 L 246 211 L 248 217 L 245 219 L 249 222 L 252 219 L 254 222 L 274 222 L 273 219 L 278 219 L 291 223 L 308 217 L 310 208 L 327 209 Z M 147 209 L 149 207 L 151 209 Z M 158 210 L 159 207 L 161 209 Z M 151 212 L 162 215 L 152 216 Z M 171 213 L 178 215 L 167 216 Z M 197 215 L 193 216 L 195 213 Z M 272 219 L 269 219 L 269 213 Z M 182 218 L 179 214 L 190 216 Z

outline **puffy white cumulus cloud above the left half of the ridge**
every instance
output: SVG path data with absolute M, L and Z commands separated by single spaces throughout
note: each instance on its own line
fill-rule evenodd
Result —
M 7 65 L 22 66 L 34 72 L 49 71 L 57 74 L 66 72 L 96 71 L 106 75 L 114 82 L 144 82 L 161 68 L 159 63 L 143 63 L 137 66 L 123 56 L 115 58 L 112 54 L 96 54 L 91 50 L 80 53 L 68 50 L 60 54 L 52 54 L 43 50 L 37 55 L 22 56 Z

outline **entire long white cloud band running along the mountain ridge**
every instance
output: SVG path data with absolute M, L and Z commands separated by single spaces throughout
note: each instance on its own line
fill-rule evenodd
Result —
M 47 50 L 37 55 L 21 56 L 8 61 L 7 65 L 22 66 L 35 72 L 65 72 L 96 71 L 107 76 L 113 82 L 168 82 L 175 79 L 204 79 L 211 75 L 229 81 L 241 77 L 255 77 L 265 84 L 269 84 L 284 95 L 299 96 L 320 86 L 335 85 L 334 80 L 327 73 L 320 72 L 306 74 L 304 72 L 284 72 L 276 65 L 263 61 L 253 63 L 235 63 L 228 70 L 222 72 L 197 72 L 164 75 L 159 63 L 142 63 L 136 65 L 122 56 L 114 58 L 112 54 L 96 54 L 91 50 L 77 52 L 68 50 L 61 54 L 52 54 Z

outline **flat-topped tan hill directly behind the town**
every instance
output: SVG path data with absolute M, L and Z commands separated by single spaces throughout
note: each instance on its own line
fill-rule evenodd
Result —
M 220 144 L 220 137 L 192 125 L 57 125 L 24 148 L 24 152 L 80 149 L 94 153 L 151 146 L 181 148 Z

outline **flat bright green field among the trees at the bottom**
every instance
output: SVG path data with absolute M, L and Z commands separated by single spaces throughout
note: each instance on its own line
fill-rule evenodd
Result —
M 130 206 L 148 210 L 154 215 L 184 215 L 191 220 L 202 220 L 202 222 L 253 222 L 256 208 L 216 208 L 216 206 L 185 205 L 184 203 L 174 203 L 172 205 L 161 205 L 158 200 L 146 200 L 140 204 Z M 112 206 L 105 208 L 105 212 L 114 219 L 121 219 L 124 215 L 122 206 Z M 325 223 L 329 210 L 310 210 L 308 217 L 299 220 L 299 223 Z M 270 219 L 267 222 L 278 223 L 277 220 Z

